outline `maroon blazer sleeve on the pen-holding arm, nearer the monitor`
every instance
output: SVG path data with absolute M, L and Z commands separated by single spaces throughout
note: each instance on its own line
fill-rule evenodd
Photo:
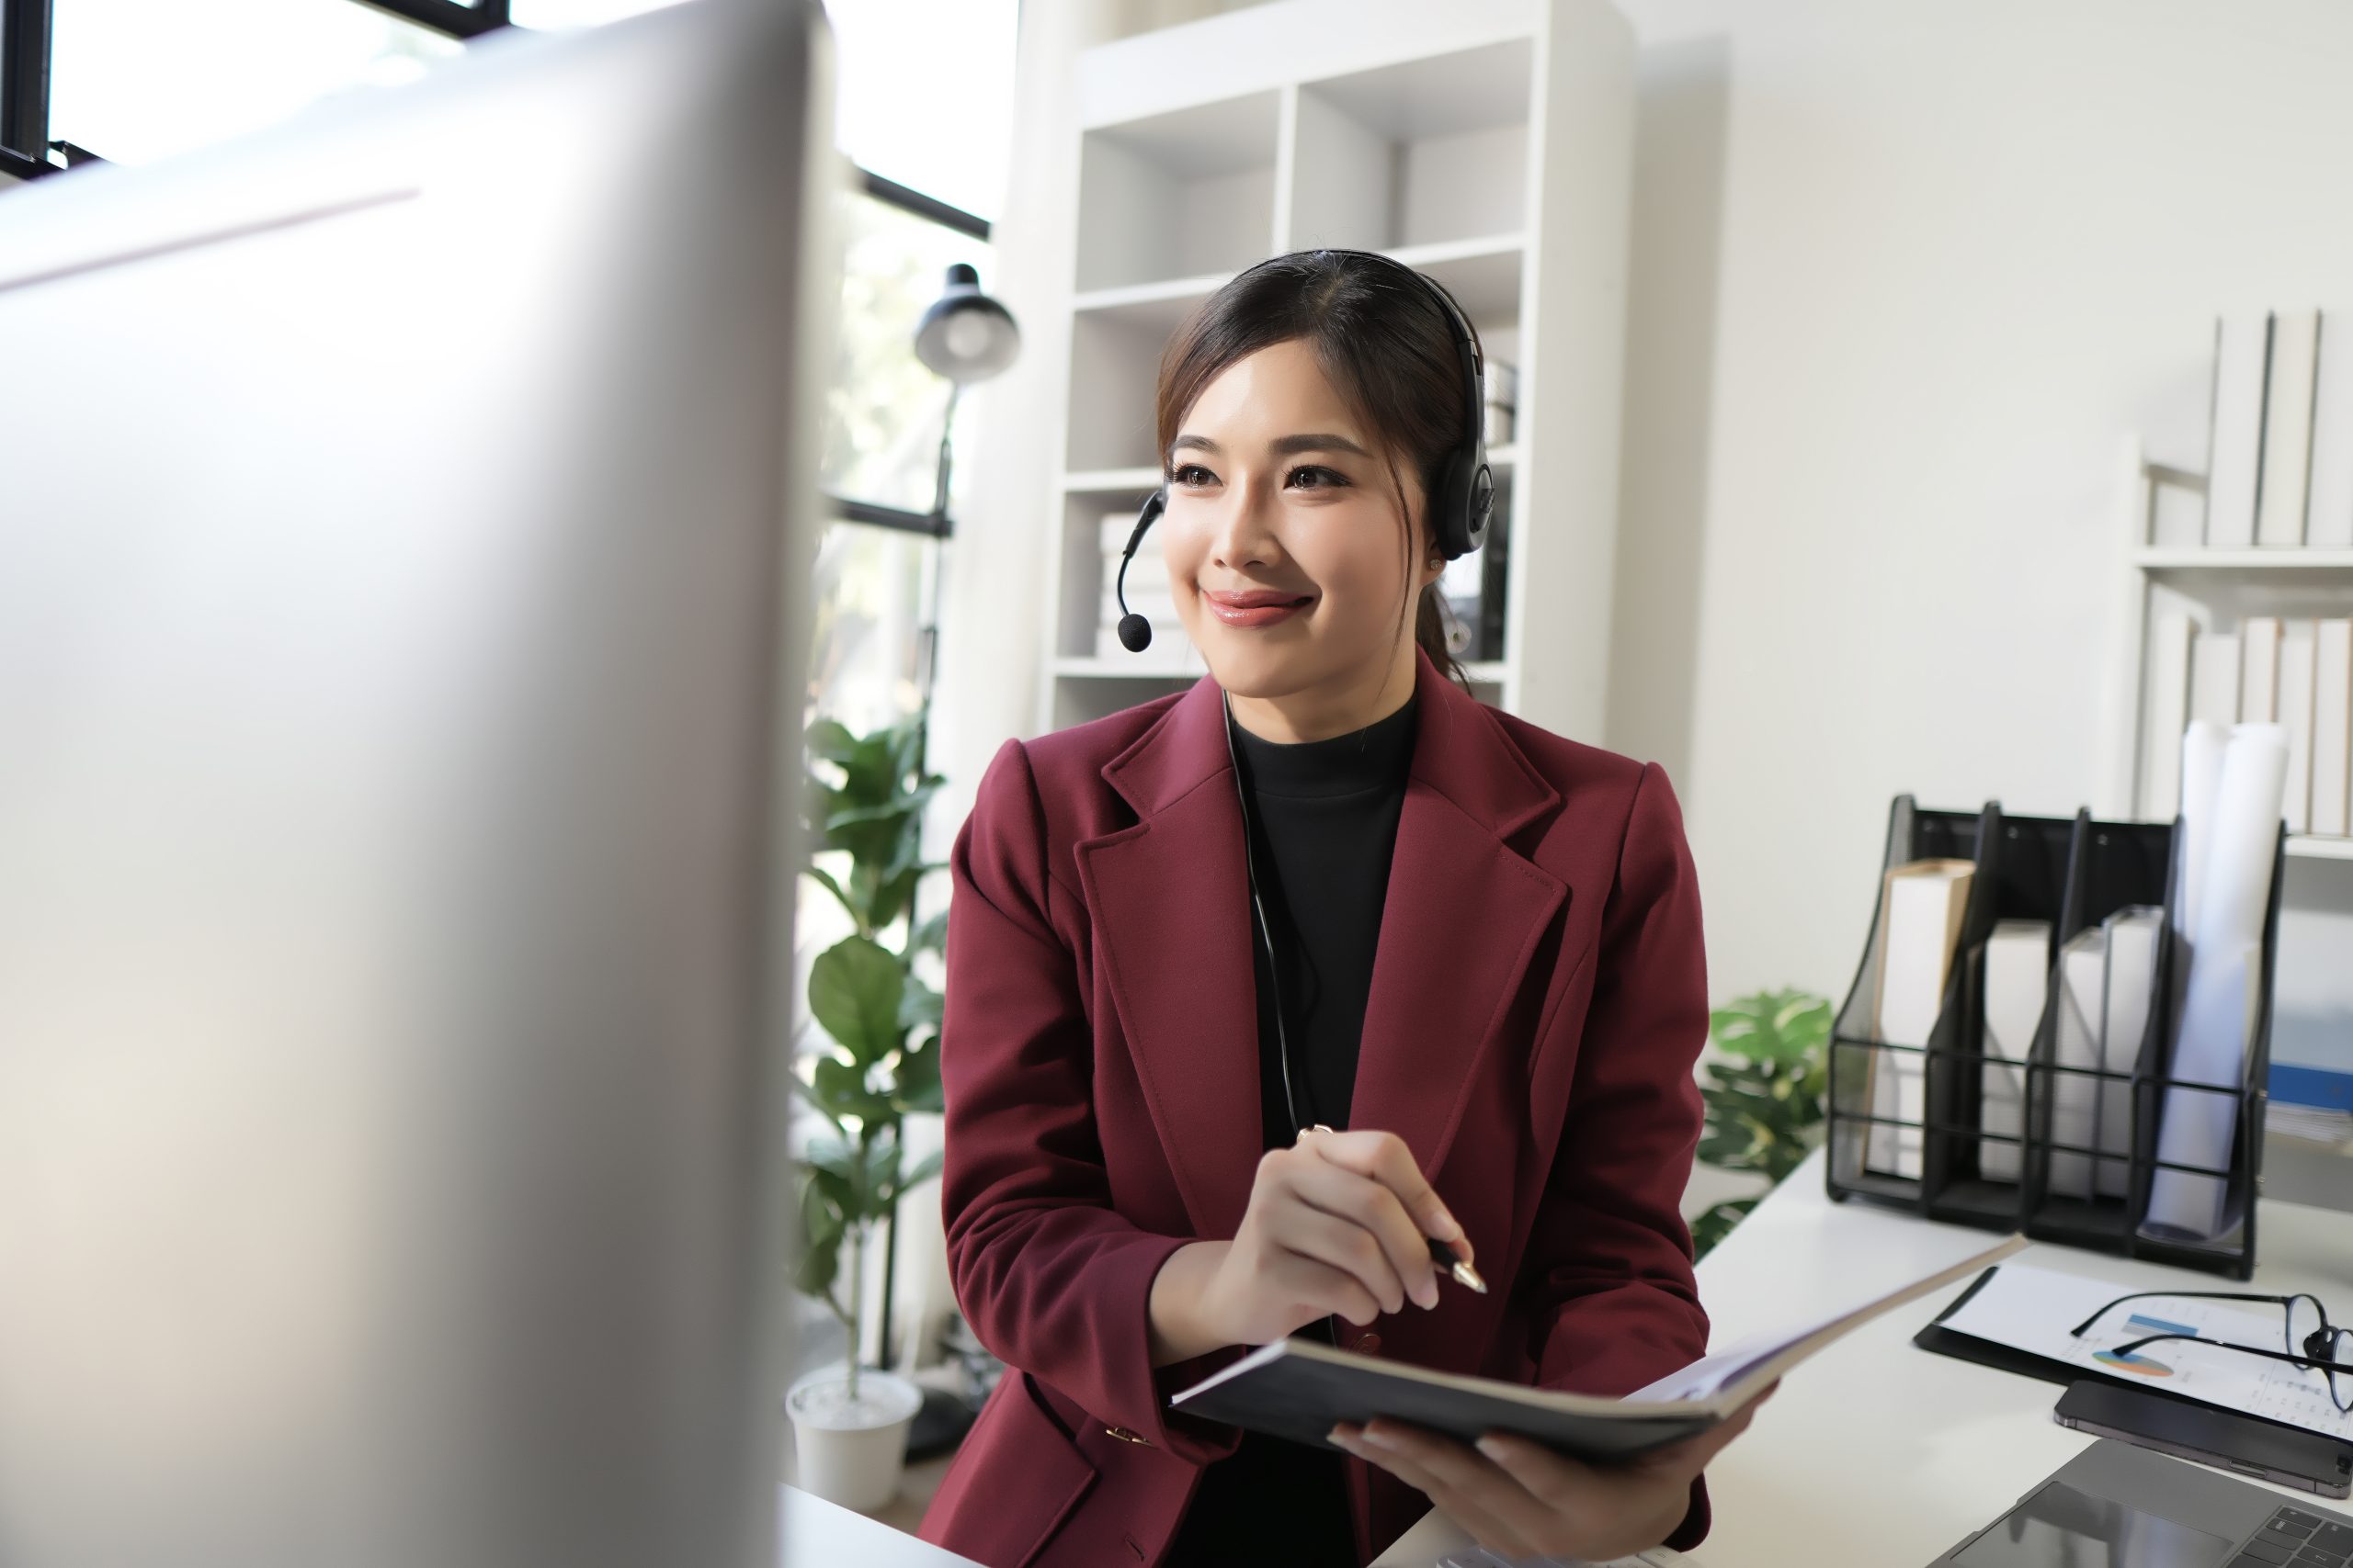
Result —
M 1021 741 L 981 776 L 948 870 L 939 1192 L 955 1300 L 991 1354 L 1089 1415 L 1193 1462 L 1224 1458 L 1238 1427 L 1160 1403 L 1221 1352 L 1151 1363 L 1153 1276 L 1191 1237 L 1139 1229 L 1111 1204 L 1094 1032 L 1047 917 L 1045 811 Z

